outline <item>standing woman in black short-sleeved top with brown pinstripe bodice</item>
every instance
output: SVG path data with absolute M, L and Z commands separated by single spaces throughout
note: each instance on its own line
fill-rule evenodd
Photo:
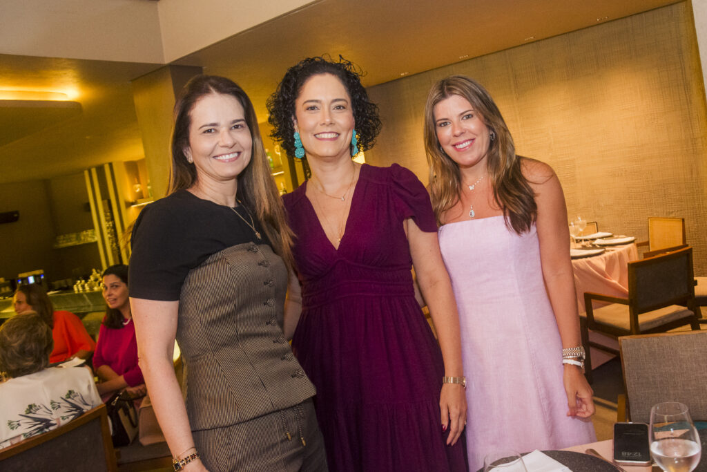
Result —
M 290 242 L 250 99 L 195 77 L 175 105 L 169 195 L 141 212 L 130 261 L 140 364 L 175 467 L 326 470 L 315 389 L 282 331 Z

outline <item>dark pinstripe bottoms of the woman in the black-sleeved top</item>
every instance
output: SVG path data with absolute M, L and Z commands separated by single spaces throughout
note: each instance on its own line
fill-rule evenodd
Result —
M 312 399 L 236 425 L 192 433 L 210 472 L 325 472 Z

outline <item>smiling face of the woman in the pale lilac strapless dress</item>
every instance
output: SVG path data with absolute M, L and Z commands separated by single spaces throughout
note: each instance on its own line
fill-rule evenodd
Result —
M 437 139 L 460 169 L 484 164 L 491 146 L 491 130 L 469 100 L 452 95 L 433 108 Z

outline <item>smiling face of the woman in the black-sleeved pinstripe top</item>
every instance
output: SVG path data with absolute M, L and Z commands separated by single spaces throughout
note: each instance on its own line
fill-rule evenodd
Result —
M 250 162 L 252 137 L 237 98 L 210 93 L 190 113 L 187 159 L 197 168 L 197 185 L 233 184 Z

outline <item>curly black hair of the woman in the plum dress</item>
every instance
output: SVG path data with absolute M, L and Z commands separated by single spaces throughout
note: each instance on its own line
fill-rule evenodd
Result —
M 346 88 L 354 110 L 358 148 L 368 151 L 380 133 L 378 106 L 368 100 L 366 88 L 361 84 L 361 69 L 341 56 L 338 62 L 331 57 L 308 57 L 287 70 L 277 90 L 267 99 L 268 122 L 273 127 L 270 137 L 274 142 L 282 143 L 288 156 L 295 156 L 295 129 L 292 121 L 295 101 L 305 82 L 311 76 L 320 74 L 332 74 Z

